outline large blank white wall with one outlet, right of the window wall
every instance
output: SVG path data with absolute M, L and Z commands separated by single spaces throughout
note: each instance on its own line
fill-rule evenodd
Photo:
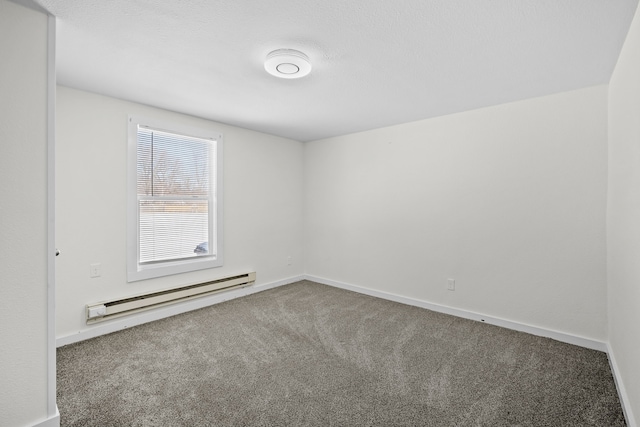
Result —
M 308 143 L 306 272 L 605 341 L 606 102 L 598 86 Z

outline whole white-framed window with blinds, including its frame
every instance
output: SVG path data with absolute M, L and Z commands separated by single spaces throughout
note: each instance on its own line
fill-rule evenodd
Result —
M 127 280 L 222 265 L 222 135 L 129 117 Z

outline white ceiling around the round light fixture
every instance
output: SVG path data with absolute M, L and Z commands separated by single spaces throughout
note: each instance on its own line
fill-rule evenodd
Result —
M 60 84 L 298 141 L 607 83 L 638 3 L 36 1 Z M 267 74 L 279 48 L 311 74 Z

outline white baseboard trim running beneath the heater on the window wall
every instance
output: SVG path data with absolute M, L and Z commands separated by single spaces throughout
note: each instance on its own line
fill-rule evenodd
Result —
M 233 289 L 202 298 L 179 302 L 174 305 L 158 308 L 156 310 L 149 310 L 139 314 L 132 314 L 129 317 L 113 319 L 113 321 L 105 321 L 104 323 L 92 326 L 89 329 L 81 330 L 76 334 L 58 337 L 56 339 L 56 347 L 62 347 L 64 345 L 88 340 L 90 338 L 95 338 L 100 335 L 106 335 L 112 332 L 120 331 L 122 329 L 127 329 L 132 326 L 142 325 L 144 323 L 153 322 L 154 320 L 160 320 L 166 317 L 175 316 L 176 314 L 186 313 L 188 311 L 197 310 L 199 308 L 208 307 L 214 304 L 219 304 L 224 301 L 229 301 L 235 298 L 255 294 L 257 292 L 266 291 L 267 289 L 287 285 L 289 283 L 294 283 L 303 279 L 304 276 L 302 275 L 293 276 L 271 283 L 246 286 L 244 288 Z

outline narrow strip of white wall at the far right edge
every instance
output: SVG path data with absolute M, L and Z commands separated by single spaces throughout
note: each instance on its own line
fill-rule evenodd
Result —
M 608 195 L 610 353 L 640 421 L 640 9 L 609 84 Z

